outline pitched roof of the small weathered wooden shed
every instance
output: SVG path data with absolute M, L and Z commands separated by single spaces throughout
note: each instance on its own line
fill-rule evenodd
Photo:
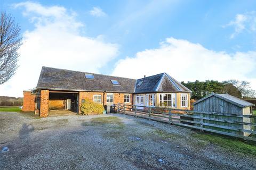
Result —
M 223 100 L 225 100 L 225 101 L 228 101 L 229 103 L 232 103 L 232 104 L 234 104 L 234 105 L 236 105 L 236 106 L 238 106 L 238 107 L 243 107 L 243 108 L 245 108 L 245 107 L 249 107 L 249 106 L 255 106 L 254 104 L 252 104 L 252 103 L 250 103 L 250 102 L 248 102 L 248 101 L 239 99 L 239 98 L 237 98 L 237 97 L 235 97 L 235 96 L 231 96 L 231 95 L 228 95 L 228 94 L 214 94 L 214 93 L 212 93 L 211 95 L 206 96 L 206 97 L 204 97 L 204 98 L 202 98 L 202 99 L 200 99 L 200 100 L 197 100 L 197 101 L 194 103 L 194 105 L 196 105 L 196 104 L 198 104 L 199 102 L 201 102 L 201 101 L 203 101 L 203 100 L 205 100 L 205 99 L 207 99 L 207 98 L 209 98 L 209 97 L 212 97 L 212 96 L 215 96 L 215 97 L 218 97 L 218 98 L 223 99 Z

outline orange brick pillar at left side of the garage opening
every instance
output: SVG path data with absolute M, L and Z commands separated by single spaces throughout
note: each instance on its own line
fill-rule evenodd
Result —
M 47 117 L 49 113 L 49 90 L 41 90 L 40 117 Z

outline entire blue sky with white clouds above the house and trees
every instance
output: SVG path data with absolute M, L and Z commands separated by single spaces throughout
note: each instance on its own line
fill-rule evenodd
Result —
M 0 96 L 36 87 L 42 66 L 139 79 L 245 80 L 256 90 L 256 1 L 13 1 L 19 69 Z

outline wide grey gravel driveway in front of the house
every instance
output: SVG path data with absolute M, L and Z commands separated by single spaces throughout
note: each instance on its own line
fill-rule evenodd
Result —
M 0 169 L 256 169 L 252 156 L 193 133 L 121 114 L 38 118 L 1 112 Z

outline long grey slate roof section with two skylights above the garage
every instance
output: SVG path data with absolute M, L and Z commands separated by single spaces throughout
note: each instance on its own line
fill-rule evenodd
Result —
M 134 79 L 94 73 L 88 74 L 93 74 L 94 79 L 86 79 L 85 72 L 43 66 L 37 88 L 49 90 L 134 92 L 136 81 Z M 113 85 L 111 80 L 117 80 L 120 85 Z

